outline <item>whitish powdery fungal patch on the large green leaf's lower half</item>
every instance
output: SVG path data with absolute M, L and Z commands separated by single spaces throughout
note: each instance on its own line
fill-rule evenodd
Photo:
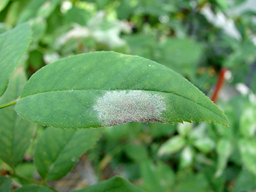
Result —
M 102 126 L 125 122 L 163 122 L 166 109 L 163 97 L 141 90 L 109 91 L 100 97 L 93 109 L 98 112 Z

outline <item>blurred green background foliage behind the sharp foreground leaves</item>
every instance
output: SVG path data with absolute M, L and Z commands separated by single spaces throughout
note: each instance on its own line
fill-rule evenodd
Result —
M 25 21 L 33 29 L 20 61 L 28 77 L 60 58 L 113 50 L 166 65 L 210 98 L 221 90 L 215 101 L 229 129 L 203 122 L 107 127 L 77 165 L 86 171 L 74 168 L 80 185 L 121 175 L 149 192 L 256 190 L 255 0 L 1 0 L 0 33 Z M 32 152 L 44 129 L 38 126 L 21 175 L 36 177 Z M 61 191 L 79 188 L 60 183 Z

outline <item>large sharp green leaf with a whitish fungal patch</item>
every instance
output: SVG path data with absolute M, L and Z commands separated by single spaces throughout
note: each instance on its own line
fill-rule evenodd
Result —
M 192 120 L 228 126 L 223 111 L 184 77 L 116 52 L 80 54 L 41 68 L 15 110 L 32 122 L 60 128 Z

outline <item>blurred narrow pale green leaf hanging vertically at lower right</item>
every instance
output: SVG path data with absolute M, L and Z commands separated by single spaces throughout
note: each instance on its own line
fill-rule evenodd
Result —
M 230 141 L 221 138 L 216 145 L 216 152 L 218 154 L 218 164 L 215 177 L 220 177 L 227 166 L 228 158 L 233 152 Z

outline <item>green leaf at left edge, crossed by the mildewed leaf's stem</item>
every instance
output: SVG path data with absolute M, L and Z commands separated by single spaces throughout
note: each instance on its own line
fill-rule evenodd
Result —
M 17 68 L 10 79 L 9 86 L 0 98 L 0 104 L 19 97 L 27 81 L 22 67 Z M 10 106 L 0 110 L 0 158 L 14 168 L 24 156 L 33 137 L 35 124 L 22 119 Z

